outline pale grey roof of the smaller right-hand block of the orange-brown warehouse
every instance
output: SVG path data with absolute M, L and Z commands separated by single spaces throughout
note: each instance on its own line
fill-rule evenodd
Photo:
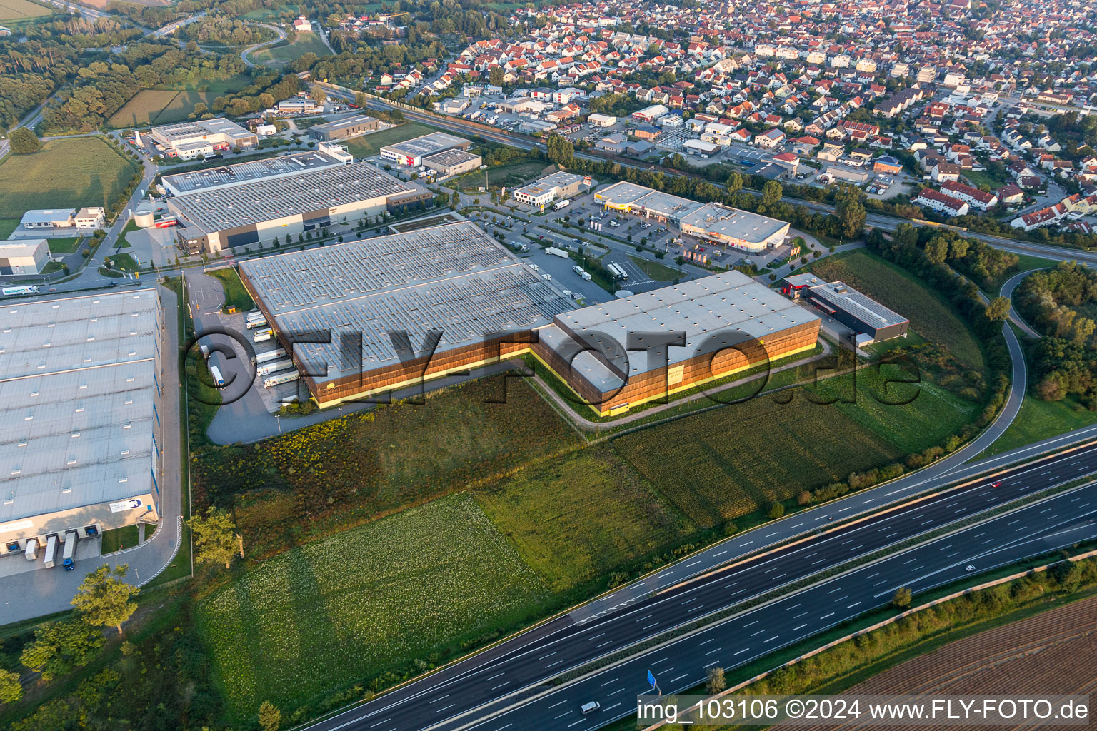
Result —
M 578 355 L 573 363 L 575 370 L 591 385 L 609 390 L 622 385 L 626 372 L 633 377 L 652 369 L 643 351 L 625 354 L 630 332 L 685 332 L 686 346 L 670 346 L 667 351 L 667 363 L 674 365 L 700 352 L 715 352 L 732 343 L 755 338 L 765 341 L 767 335 L 818 319 L 813 312 L 733 270 L 565 312 L 557 316 L 555 322 L 561 330 L 576 336 L 618 343 L 607 349 L 604 358 L 612 363 L 612 368 L 590 352 Z M 706 349 L 700 347 L 717 334 L 725 335 L 724 340 L 711 341 Z M 542 339 L 546 335 L 547 342 L 553 344 L 553 333 L 541 333 Z

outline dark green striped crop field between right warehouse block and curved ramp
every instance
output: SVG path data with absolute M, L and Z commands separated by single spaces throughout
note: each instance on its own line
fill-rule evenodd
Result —
M 613 445 L 683 513 L 709 527 L 850 472 L 900 461 L 943 442 L 980 410 L 926 380 L 884 385 L 908 378 L 895 366 L 864 368 L 856 381 L 836 376 L 812 390 L 641 430 Z M 841 402 L 852 400 L 855 389 L 856 401 Z

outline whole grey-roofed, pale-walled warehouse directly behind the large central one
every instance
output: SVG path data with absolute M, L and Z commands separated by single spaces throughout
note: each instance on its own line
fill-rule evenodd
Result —
M 416 183 L 357 162 L 197 191 L 167 203 L 179 219 L 180 248 L 188 253 L 214 253 L 326 227 L 342 218 L 400 210 L 430 197 Z

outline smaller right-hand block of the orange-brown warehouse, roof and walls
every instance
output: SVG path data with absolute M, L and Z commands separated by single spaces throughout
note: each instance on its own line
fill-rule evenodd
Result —
M 808 351 L 818 331 L 816 315 L 730 271 L 558 315 L 532 352 L 609 415 Z M 660 346 L 670 333 L 683 344 Z

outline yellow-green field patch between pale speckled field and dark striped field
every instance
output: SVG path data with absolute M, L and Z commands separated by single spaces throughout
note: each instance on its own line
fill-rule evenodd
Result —
M 529 467 L 474 496 L 556 592 L 597 579 L 693 530 L 604 446 Z

